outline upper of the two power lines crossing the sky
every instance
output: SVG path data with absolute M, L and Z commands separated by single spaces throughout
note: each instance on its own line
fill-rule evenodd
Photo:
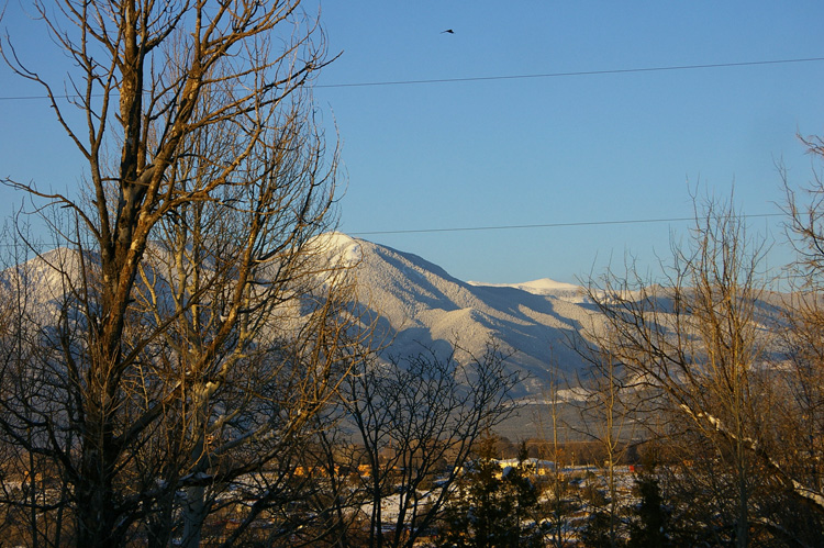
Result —
M 567 78 L 576 76 L 599 76 L 599 75 L 625 75 L 639 72 L 662 72 L 672 70 L 697 70 L 706 68 L 732 68 L 732 67 L 755 67 L 765 65 L 789 65 L 794 63 L 819 63 L 824 61 L 824 57 L 803 57 L 797 59 L 773 59 L 773 60 L 750 60 L 738 63 L 711 63 L 703 65 L 669 65 L 662 67 L 639 67 L 639 68 L 613 68 L 604 70 L 577 70 L 568 72 L 537 72 L 526 75 L 499 75 L 499 76 L 472 76 L 466 78 L 431 78 L 422 80 L 386 80 L 371 82 L 343 82 L 343 83 L 318 83 L 315 89 L 324 88 L 367 88 L 382 86 L 412 86 L 412 85 L 432 85 L 432 83 L 455 83 L 455 82 L 482 82 L 494 80 L 526 80 L 535 78 Z M 55 96 L 56 99 L 74 99 L 78 94 Z M 100 96 L 94 96 L 100 97 Z M 23 101 L 30 99 L 48 99 L 48 96 L 8 96 L 0 97 L 0 101 Z

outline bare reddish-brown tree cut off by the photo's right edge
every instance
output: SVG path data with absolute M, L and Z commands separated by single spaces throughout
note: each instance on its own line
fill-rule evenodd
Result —
M 782 425 L 781 436 L 761 443 L 759 454 L 788 488 L 805 504 L 805 510 L 824 518 L 824 180 L 821 176 L 824 142 L 801 138 L 813 157 L 812 180 L 794 190 L 788 172 L 781 169 L 787 192 L 788 239 L 797 257 L 790 266 L 793 290 L 782 303 L 784 328 L 776 398 L 771 412 Z M 791 449 L 790 449 L 791 448 Z M 813 522 L 813 519 L 809 519 Z M 798 530 L 790 527 L 790 530 Z

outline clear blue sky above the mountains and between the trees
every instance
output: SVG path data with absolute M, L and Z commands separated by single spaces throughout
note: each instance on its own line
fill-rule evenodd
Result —
M 776 161 L 795 184 L 812 177 L 797 134 L 824 135 L 824 61 L 615 71 L 824 57 L 821 0 L 320 4 L 330 54 L 342 52 L 315 91 L 343 141 L 341 230 L 460 279 L 575 282 L 625 253 L 646 268 L 689 223 L 388 233 L 680 219 L 695 186 L 722 197 L 734 186 L 744 213 L 778 213 Z M 15 11 L 12 0 L 12 34 Z M 338 86 L 561 74 L 579 75 Z M 0 69 L 0 96 L 33 91 Z M 0 100 L 0 175 L 76 184 L 49 115 Z M 781 237 L 780 219 L 750 222 Z

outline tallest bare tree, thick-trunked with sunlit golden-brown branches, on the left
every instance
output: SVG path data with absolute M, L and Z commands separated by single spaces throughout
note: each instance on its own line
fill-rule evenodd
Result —
M 336 152 L 307 89 L 323 36 L 299 0 L 33 8 L 71 59 L 67 99 L 9 41 L 2 55 L 45 90 L 88 184 L 5 180 L 67 214 L 46 217 L 67 251 L 38 258 L 60 297 L 51 320 L 32 316 L 36 336 L 11 337 L 33 353 L 18 384 L 34 393 L 4 403 L 2 429 L 65 479 L 78 546 L 197 545 L 227 485 L 282 493 L 254 473 L 343 372 L 349 294 L 309 251 L 334 220 Z

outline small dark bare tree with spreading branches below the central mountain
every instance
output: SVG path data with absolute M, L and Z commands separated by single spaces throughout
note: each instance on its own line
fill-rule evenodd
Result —
M 516 410 L 516 382 L 493 344 L 464 359 L 424 348 L 388 362 L 359 361 L 338 404 L 341 425 L 358 449 L 338 470 L 360 465 L 354 495 L 344 500 L 349 512 L 366 513 L 368 538 L 355 540 L 350 530 L 336 546 L 414 546 L 442 516 L 474 444 Z

